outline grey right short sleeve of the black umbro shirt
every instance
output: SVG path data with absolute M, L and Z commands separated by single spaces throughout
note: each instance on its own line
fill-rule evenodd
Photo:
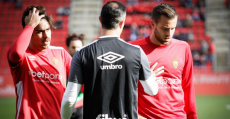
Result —
M 151 76 L 151 70 L 150 70 L 150 66 L 149 66 L 149 61 L 147 56 L 145 55 L 144 51 L 140 48 L 140 75 L 139 75 L 139 80 L 147 80 L 150 76 Z

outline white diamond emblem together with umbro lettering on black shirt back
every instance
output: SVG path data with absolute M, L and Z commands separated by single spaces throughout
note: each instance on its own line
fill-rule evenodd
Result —
M 107 52 L 103 55 L 98 56 L 97 59 L 110 63 L 110 65 L 100 66 L 102 70 L 104 69 L 122 69 L 122 65 L 112 65 L 112 63 L 119 61 L 123 59 L 124 57 L 125 56 L 114 53 L 114 52 Z

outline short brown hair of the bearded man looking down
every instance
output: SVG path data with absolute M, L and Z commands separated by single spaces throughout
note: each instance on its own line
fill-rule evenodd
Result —
M 177 16 L 177 12 L 172 5 L 167 3 L 161 3 L 160 5 L 153 8 L 151 14 L 152 20 L 158 23 L 158 20 L 160 19 L 161 15 L 169 19 L 173 19 L 175 16 Z

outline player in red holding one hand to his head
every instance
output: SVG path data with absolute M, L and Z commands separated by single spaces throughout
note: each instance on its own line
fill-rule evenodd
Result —
M 16 91 L 16 119 L 60 119 L 72 57 L 50 46 L 52 18 L 43 6 L 29 6 L 23 30 L 8 51 Z

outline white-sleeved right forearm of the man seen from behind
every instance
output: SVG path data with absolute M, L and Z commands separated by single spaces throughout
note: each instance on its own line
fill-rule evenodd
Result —
M 156 95 L 158 93 L 158 84 L 156 83 L 153 76 L 150 76 L 147 80 L 141 81 L 144 91 L 149 95 Z

